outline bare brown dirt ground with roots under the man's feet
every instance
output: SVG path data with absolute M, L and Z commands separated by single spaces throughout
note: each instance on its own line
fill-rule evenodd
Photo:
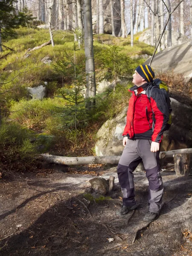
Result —
M 192 256 L 192 177 L 164 170 L 164 205 L 159 218 L 146 223 L 145 173 L 134 174 L 140 207 L 117 217 L 116 167 L 62 169 L 0 180 L 1 256 Z M 115 176 L 113 200 L 89 200 L 89 180 L 110 175 Z

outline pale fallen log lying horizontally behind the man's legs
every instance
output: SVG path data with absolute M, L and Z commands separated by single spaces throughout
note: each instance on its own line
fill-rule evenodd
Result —
M 192 148 L 183 148 L 172 151 L 160 152 L 160 159 L 172 158 L 175 154 L 192 153 Z M 49 154 L 41 154 L 41 157 L 49 163 L 58 163 L 66 165 L 84 165 L 98 163 L 119 163 L 121 156 L 103 156 L 103 157 L 60 157 Z

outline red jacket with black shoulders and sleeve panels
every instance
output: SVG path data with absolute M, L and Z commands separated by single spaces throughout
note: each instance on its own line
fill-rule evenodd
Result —
M 151 102 L 149 101 L 145 90 L 150 84 L 146 83 L 129 89 L 132 95 L 127 111 L 127 123 L 122 135 L 127 135 L 129 139 L 145 139 L 160 143 L 169 120 L 169 109 L 164 93 L 158 88 L 152 90 Z M 154 129 L 152 128 L 153 114 Z

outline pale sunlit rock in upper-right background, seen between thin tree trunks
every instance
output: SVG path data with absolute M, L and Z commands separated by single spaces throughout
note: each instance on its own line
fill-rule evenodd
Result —
M 165 31 L 165 40 L 167 47 L 167 31 Z M 151 29 L 145 30 L 139 38 L 140 42 L 151 45 Z M 172 46 L 189 42 L 189 38 L 185 35 L 179 34 L 178 32 L 172 31 Z

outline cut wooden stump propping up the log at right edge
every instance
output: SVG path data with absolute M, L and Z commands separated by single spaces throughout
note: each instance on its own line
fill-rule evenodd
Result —
M 175 154 L 176 175 L 192 175 L 192 154 Z

